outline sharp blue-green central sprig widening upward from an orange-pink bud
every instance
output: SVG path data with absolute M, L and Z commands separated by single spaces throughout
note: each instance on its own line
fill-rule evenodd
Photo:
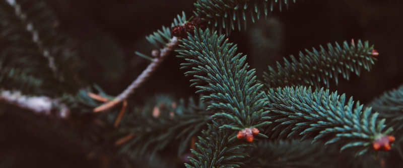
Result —
M 233 121 L 221 128 L 241 130 L 270 124 L 262 119 L 268 113 L 263 112 L 265 101 L 262 99 L 263 92 L 259 91 L 262 85 L 254 84 L 255 70 L 247 70 L 246 56 L 242 56 L 242 53 L 235 55 L 236 45 L 228 43 L 228 39 L 225 40 L 224 35 L 218 36 L 217 32 L 211 34 L 209 29 L 195 30 L 194 34 L 181 40 L 183 44 L 179 46 L 183 51 L 177 57 L 188 62 L 181 64 L 181 69 L 192 69 L 185 74 L 196 78 L 190 80 L 193 82 L 191 86 L 200 89 L 196 93 L 213 93 L 203 96 L 201 100 L 221 102 L 208 107 L 207 110 L 213 112 L 224 111 L 213 117 Z M 259 135 L 266 137 L 261 133 Z

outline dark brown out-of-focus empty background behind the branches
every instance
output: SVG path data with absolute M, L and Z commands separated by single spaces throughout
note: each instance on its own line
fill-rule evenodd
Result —
M 52 0 L 48 3 L 60 19 L 60 27 L 72 37 L 80 54 L 89 63 L 84 76 L 108 94 L 117 95 L 147 67 L 149 61 L 135 51 L 151 55 L 154 49 L 146 36 L 170 26 L 176 15 L 192 16 L 189 0 Z M 365 104 L 382 92 L 403 84 L 403 2 L 387 0 L 305 0 L 288 10 L 276 9 L 266 20 L 247 24 L 246 31 L 233 31 L 229 40 L 258 78 L 267 65 L 283 64 L 283 57 L 319 45 L 343 41 L 369 41 L 379 52 L 371 72 L 350 81 L 340 79 L 330 90 L 346 93 Z M 400 51 L 402 50 L 402 51 Z M 175 98 L 195 96 L 191 78 L 180 70 L 183 60 L 171 54 L 155 74 L 133 95 L 142 103 L 148 97 L 165 93 Z M 112 66 L 113 65 L 113 66 Z M 119 66 L 116 66 L 119 65 Z M 7 120 L 2 118 L 2 120 Z M 74 154 L 58 151 L 23 131 L 10 131 L 6 121 L 0 129 L 0 167 L 99 167 Z M 13 123 L 13 129 L 27 129 Z M 29 126 L 28 126 L 29 127 Z M 35 129 L 32 128 L 31 129 Z M 46 135 L 44 135 L 46 136 Z M 39 151 L 39 152 L 38 152 Z M 21 161 L 24 160 L 24 161 Z M 184 167 L 181 163 L 181 167 Z

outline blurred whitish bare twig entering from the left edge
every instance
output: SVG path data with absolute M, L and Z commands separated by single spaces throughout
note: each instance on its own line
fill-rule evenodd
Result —
M 20 108 L 34 111 L 37 114 L 68 118 L 69 108 L 58 100 L 46 96 L 25 96 L 19 91 L 0 91 L 0 101 L 18 106 Z

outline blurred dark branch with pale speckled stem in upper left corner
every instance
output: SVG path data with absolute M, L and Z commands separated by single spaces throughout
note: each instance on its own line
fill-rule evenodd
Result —
M 80 84 L 81 60 L 72 48 L 72 40 L 59 29 L 60 23 L 52 9 L 44 0 L 8 0 L 7 3 L 31 33 L 39 53 L 48 60 L 53 78 L 76 92 Z

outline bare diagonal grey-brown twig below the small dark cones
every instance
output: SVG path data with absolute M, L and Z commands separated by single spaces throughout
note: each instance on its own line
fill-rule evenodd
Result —
M 159 57 L 155 58 L 153 62 L 137 77 L 135 81 L 133 81 L 122 93 L 116 96 L 112 101 L 103 104 L 94 109 L 94 112 L 100 112 L 107 110 L 121 101 L 127 99 L 131 94 L 133 94 L 137 88 L 139 88 L 144 82 L 147 81 L 148 78 L 153 74 L 153 72 L 161 65 L 161 63 L 165 60 L 165 58 L 175 49 L 176 46 L 179 45 L 178 38 L 173 37 L 171 42 L 161 50 Z

